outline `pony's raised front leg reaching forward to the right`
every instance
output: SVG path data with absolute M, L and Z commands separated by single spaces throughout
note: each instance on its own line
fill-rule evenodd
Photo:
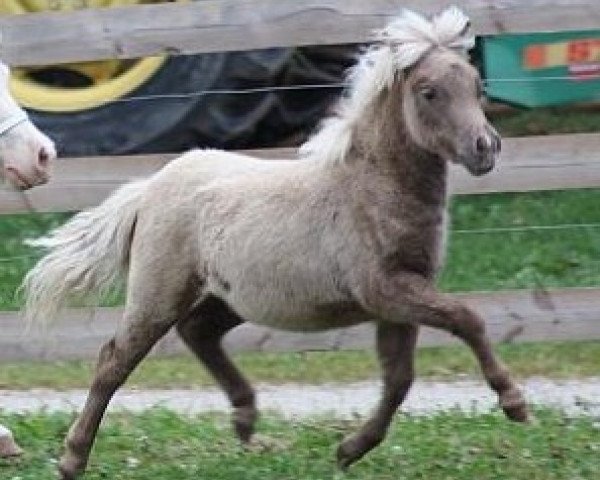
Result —
M 498 394 L 500 406 L 511 420 L 525 422 L 525 399 L 507 368 L 496 357 L 485 331 L 485 323 L 474 311 L 449 295 L 437 292 L 432 282 L 415 274 L 381 276 L 370 282 L 363 301 L 379 318 L 412 322 L 446 330 L 473 351 L 483 375 Z

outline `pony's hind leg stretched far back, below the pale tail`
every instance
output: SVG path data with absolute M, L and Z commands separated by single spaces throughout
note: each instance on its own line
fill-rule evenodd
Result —
M 178 273 L 182 271 L 180 269 Z M 182 277 L 148 275 L 142 280 L 132 279 L 130 275 L 123 322 L 115 336 L 100 350 L 87 400 L 67 434 L 65 453 L 58 466 L 62 479 L 71 480 L 83 472 L 113 394 L 175 324 L 182 311 L 189 309 L 190 285 Z

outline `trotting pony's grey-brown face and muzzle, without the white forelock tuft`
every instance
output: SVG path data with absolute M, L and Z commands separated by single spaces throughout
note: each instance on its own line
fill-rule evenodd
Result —
M 479 74 L 463 56 L 433 48 L 406 72 L 403 88 L 405 125 L 415 143 L 473 175 L 494 168 L 500 136 L 483 112 Z

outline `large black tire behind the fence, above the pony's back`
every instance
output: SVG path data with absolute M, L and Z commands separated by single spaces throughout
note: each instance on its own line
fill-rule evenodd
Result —
M 352 47 L 312 47 L 173 57 L 131 96 L 337 83 L 353 52 Z M 335 89 L 218 94 L 31 115 L 63 156 L 258 148 L 304 137 L 337 95 Z

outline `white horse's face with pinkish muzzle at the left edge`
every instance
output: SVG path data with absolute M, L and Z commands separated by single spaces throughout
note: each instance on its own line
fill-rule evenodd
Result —
M 48 181 L 56 149 L 10 95 L 9 74 L 0 62 L 0 177 L 28 189 Z

